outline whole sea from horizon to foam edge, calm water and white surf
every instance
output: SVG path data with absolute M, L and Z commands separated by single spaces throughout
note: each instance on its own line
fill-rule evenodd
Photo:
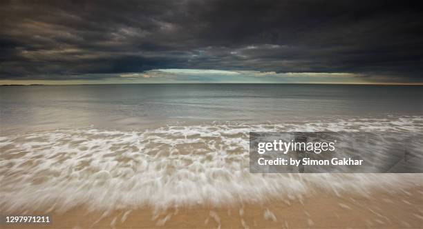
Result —
M 423 183 L 418 174 L 248 170 L 252 131 L 422 132 L 422 86 L 2 86 L 0 126 L 4 212 L 218 206 Z

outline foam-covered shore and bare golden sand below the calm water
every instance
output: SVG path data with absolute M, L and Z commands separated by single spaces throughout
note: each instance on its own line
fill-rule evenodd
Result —
M 421 228 L 420 174 L 254 174 L 247 154 L 252 130 L 421 124 L 402 117 L 9 135 L 0 139 L 0 212 L 51 223 L 1 228 Z

